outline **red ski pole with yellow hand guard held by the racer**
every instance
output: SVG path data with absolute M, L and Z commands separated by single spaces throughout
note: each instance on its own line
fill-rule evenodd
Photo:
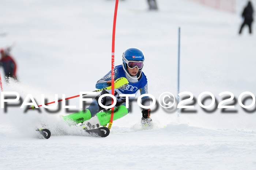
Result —
M 121 88 L 125 88 L 128 84 L 128 80 L 124 77 L 121 77 L 119 79 L 117 79 L 115 82 L 114 82 L 114 88 L 118 88 L 118 89 L 121 89 Z M 99 90 L 95 90 L 95 91 L 92 91 L 92 92 L 98 92 L 98 91 L 102 91 L 102 90 L 110 90 L 112 88 L 112 86 L 109 86 L 109 87 L 106 87 L 106 88 L 102 88 L 102 89 L 99 89 Z M 87 94 L 82 94 L 82 95 L 87 95 Z M 69 97 L 69 98 L 65 98 L 65 100 L 68 100 L 68 99 L 73 99 L 73 98 L 76 98 L 76 97 L 79 97 L 80 95 L 75 95 L 75 96 L 72 96 L 72 97 Z M 63 101 L 63 99 L 61 100 L 58 100 L 57 102 L 61 102 Z M 50 103 L 46 103 L 45 105 L 48 105 L 48 104 L 52 104 L 52 103 L 55 103 L 54 102 L 50 102 Z M 38 106 L 38 107 L 41 107 L 42 105 Z M 33 108 L 34 110 L 34 106 L 28 108 L 28 109 L 31 109 Z

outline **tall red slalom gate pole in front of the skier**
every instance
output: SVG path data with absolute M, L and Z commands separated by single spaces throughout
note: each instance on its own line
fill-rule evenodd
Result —
M 117 7 L 118 7 L 118 0 L 116 0 L 115 12 L 114 12 L 114 22 L 113 22 L 113 33 L 112 33 L 112 60 L 111 60 L 111 94 L 114 96 L 114 59 L 115 59 L 115 35 L 116 35 L 116 15 L 117 15 Z M 112 104 L 114 100 L 112 99 Z M 113 123 L 114 117 L 114 107 L 111 108 L 111 117 L 109 121 L 108 129 L 111 128 Z

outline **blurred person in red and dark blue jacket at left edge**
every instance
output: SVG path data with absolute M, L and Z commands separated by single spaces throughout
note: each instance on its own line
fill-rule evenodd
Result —
M 10 48 L 6 50 L 1 49 L 1 59 L 0 59 L 0 66 L 4 68 L 5 80 L 8 83 L 10 78 L 14 78 L 17 80 L 16 77 L 16 63 L 14 59 L 10 56 Z

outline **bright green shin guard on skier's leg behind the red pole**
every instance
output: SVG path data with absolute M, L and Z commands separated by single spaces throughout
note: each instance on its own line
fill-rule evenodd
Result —
M 116 108 L 114 108 L 113 120 L 119 119 L 127 114 L 128 114 L 128 110 L 127 108 L 125 108 L 124 105 L 117 106 Z M 111 110 L 105 111 L 105 112 L 99 112 L 97 113 L 97 117 L 101 125 L 108 124 L 111 117 Z

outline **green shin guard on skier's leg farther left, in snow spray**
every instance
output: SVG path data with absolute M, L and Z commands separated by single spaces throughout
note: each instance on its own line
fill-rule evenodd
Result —
M 67 120 L 67 121 L 71 120 L 71 121 L 75 121 L 76 123 L 82 123 L 86 120 L 89 120 L 90 118 L 91 118 L 91 112 L 89 109 L 75 112 L 73 114 L 63 117 L 64 120 Z

